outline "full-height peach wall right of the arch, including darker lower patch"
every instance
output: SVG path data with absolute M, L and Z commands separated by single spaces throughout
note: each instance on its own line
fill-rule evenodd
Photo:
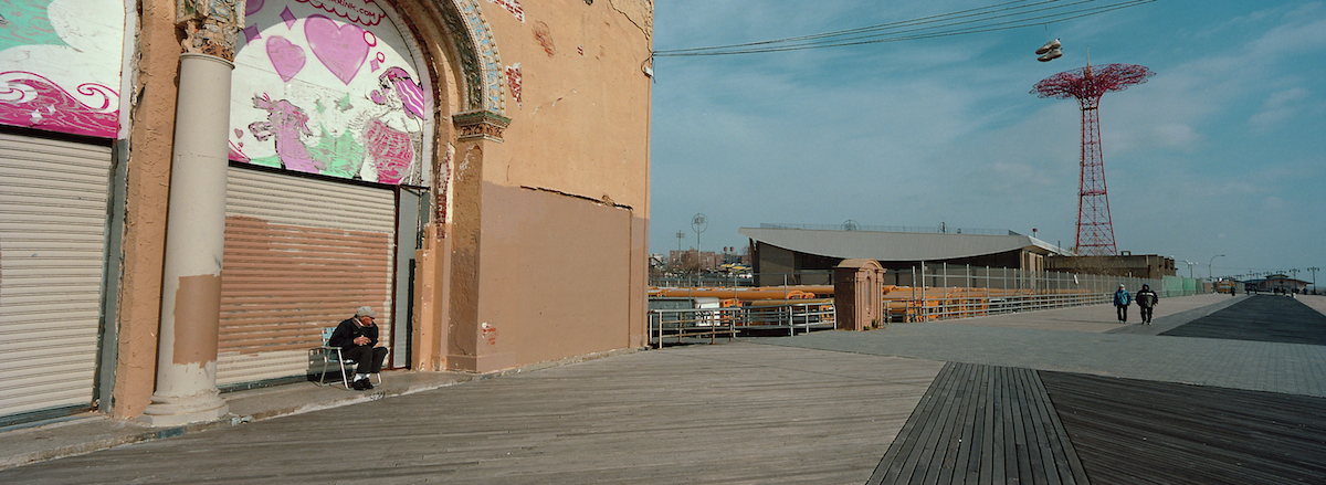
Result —
M 480 217 L 477 268 L 464 274 L 479 305 L 476 314 L 452 309 L 448 367 L 642 346 L 650 3 L 530 1 L 524 21 L 480 4 L 520 83 L 507 86 L 504 140 L 484 142 L 477 158 L 480 199 L 464 203 Z

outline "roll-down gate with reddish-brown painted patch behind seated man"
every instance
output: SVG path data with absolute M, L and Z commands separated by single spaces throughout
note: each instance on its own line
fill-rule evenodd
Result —
M 394 330 L 395 191 L 232 166 L 216 383 L 302 376 L 322 327 L 370 305 Z

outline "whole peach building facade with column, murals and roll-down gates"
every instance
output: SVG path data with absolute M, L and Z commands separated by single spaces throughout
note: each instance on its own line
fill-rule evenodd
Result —
M 0 425 L 216 419 L 361 305 L 394 368 L 643 345 L 651 1 L 0 15 Z

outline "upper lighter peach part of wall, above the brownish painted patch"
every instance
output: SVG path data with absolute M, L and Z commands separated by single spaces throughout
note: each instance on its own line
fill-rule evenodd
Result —
M 521 23 L 480 1 L 501 64 L 521 68 L 521 101 L 508 86 L 512 123 L 485 154 L 485 182 L 607 199 L 647 217 L 651 44 L 614 7 L 638 3 L 525 1 Z

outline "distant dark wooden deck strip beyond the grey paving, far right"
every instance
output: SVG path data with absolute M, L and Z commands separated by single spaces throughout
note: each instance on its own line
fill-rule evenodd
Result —
M 1294 298 L 1260 294 L 1160 335 L 1326 346 L 1326 315 Z

